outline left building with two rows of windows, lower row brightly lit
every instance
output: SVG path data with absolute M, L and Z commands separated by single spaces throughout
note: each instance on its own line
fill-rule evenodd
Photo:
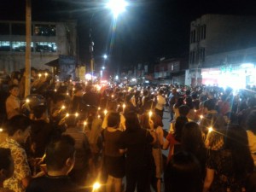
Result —
M 77 55 L 77 22 L 32 22 L 32 67 L 44 65 L 59 55 Z M 11 73 L 25 67 L 25 21 L 0 21 L 0 71 Z

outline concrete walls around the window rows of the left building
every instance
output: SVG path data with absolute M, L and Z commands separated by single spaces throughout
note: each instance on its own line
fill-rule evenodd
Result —
M 0 21 L 2 22 L 2 21 Z M 8 22 L 8 21 L 4 21 Z M 9 21 L 16 23 L 20 21 Z M 32 51 L 32 67 L 38 69 L 46 69 L 44 65 L 49 61 L 53 61 L 59 55 L 77 55 L 77 22 L 67 20 L 66 22 L 32 22 L 32 24 L 49 24 L 55 25 L 56 35 L 54 37 L 32 36 L 32 42 L 51 42 L 57 46 L 56 52 L 35 52 Z M 26 41 L 25 36 L 18 35 L 0 35 L 0 41 Z M 11 73 L 19 71 L 25 67 L 25 52 L 0 51 L 0 71 Z

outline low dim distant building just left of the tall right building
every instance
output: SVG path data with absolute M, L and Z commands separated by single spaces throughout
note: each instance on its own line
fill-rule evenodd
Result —
M 184 84 L 185 69 L 189 67 L 185 59 L 161 59 L 154 65 L 154 79 L 161 84 Z

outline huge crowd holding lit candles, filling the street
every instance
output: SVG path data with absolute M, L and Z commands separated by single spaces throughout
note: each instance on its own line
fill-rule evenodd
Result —
M 0 191 L 256 191 L 253 91 L 60 82 L 32 69 L 24 97 L 15 77 L 1 84 Z

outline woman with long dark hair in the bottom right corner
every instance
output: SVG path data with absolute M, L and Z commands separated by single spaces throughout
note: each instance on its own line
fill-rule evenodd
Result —
M 203 192 L 245 191 L 246 178 L 253 172 L 247 132 L 239 125 L 229 125 L 224 139 L 224 149 L 215 151 L 207 159 Z

